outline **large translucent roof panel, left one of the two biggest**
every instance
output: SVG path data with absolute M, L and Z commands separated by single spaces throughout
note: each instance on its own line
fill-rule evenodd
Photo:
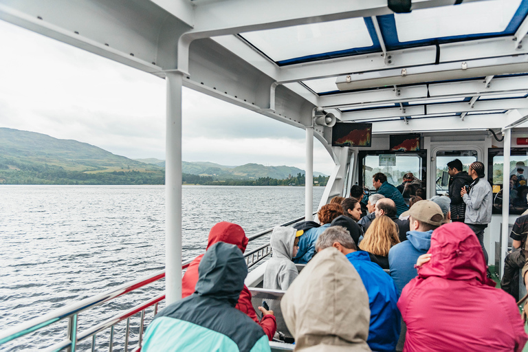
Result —
M 362 18 L 246 32 L 241 36 L 273 61 L 373 45 Z

